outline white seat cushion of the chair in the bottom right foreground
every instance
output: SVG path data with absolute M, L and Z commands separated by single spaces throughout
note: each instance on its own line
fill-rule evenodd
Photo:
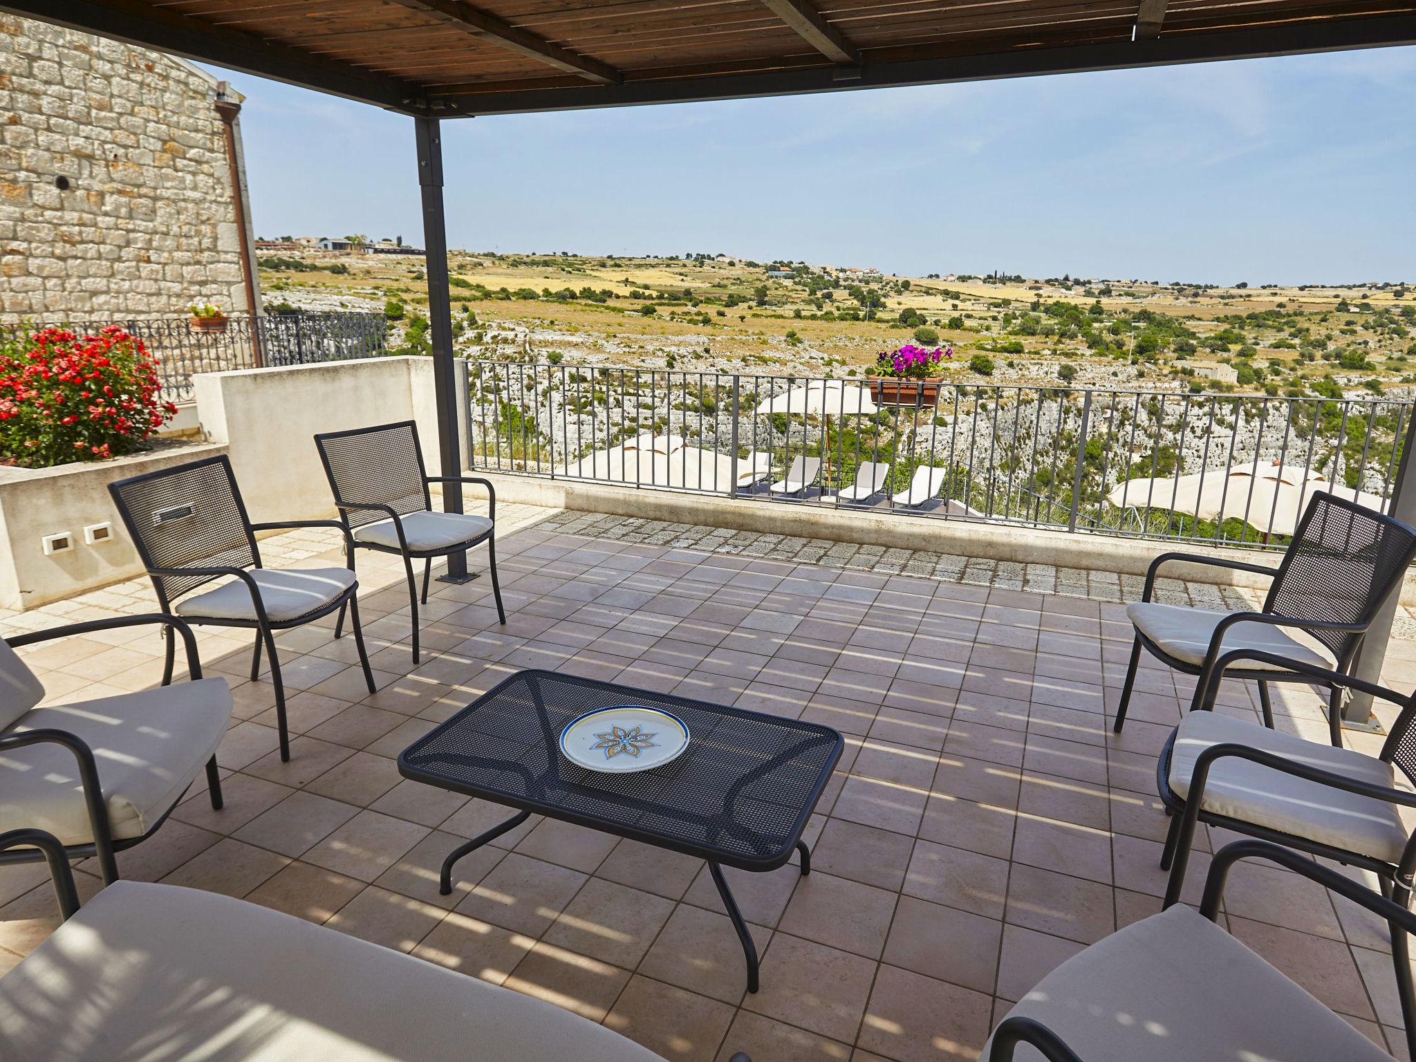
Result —
M 1086 1062 L 1391 1062 L 1223 929 L 1180 905 L 1072 956 L 1014 1015 L 1046 1025 Z M 991 1046 L 990 1039 L 983 1059 Z M 1027 1045 L 1014 1055 L 1041 1058 Z

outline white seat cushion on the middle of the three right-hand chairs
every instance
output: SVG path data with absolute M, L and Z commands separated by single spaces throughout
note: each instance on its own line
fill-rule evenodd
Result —
M 1191 712 L 1177 728 L 1170 760 L 1170 787 L 1178 796 L 1189 796 L 1189 780 L 1199 753 L 1222 742 L 1263 749 L 1296 763 L 1378 786 L 1393 787 L 1396 783 L 1392 765 L 1376 756 L 1303 741 L 1228 715 Z M 1396 804 L 1233 758 L 1222 758 L 1209 767 L 1204 810 L 1388 862 L 1400 860 L 1409 837 Z

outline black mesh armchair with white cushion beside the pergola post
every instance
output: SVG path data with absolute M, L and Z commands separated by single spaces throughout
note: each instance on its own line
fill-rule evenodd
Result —
M 490 480 L 479 476 L 429 476 L 423 449 L 418 443 L 418 425 L 412 421 L 355 428 L 348 432 L 324 432 L 314 436 L 324 463 L 324 474 L 334 491 L 334 504 L 350 531 L 348 565 L 354 569 L 354 549 L 398 554 L 408 573 L 408 603 L 413 610 L 413 663 L 418 663 L 418 582 L 413 561 L 423 562 L 422 603 L 428 603 L 428 581 L 433 559 L 460 554 L 487 544 L 491 593 L 497 616 L 506 623 L 501 585 L 497 582 L 497 493 Z M 487 515 L 439 513 L 428 491 L 432 483 L 477 483 L 487 489 Z M 343 623 L 344 616 L 340 616 Z

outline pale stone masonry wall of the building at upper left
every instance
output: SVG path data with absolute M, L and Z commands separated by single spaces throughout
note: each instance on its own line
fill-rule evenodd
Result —
M 0 324 L 246 309 L 217 86 L 0 14 Z

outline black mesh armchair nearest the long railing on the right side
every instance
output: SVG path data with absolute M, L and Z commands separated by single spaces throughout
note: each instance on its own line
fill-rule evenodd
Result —
M 1197 554 L 1161 554 L 1146 572 L 1141 600 L 1126 609 L 1136 627 L 1136 643 L 1113 729 L 1120 733 L 1126 724 L 1143 647 L 1174 670 L 1199 675 L 1197 704 L 1221 654 L 1250 650 L 1255 653 L 1250 666 L 1232 670 L 1231 678 L 1259 684 L 1263 719 L 1272 726 L 1269 683 L 1311 684 L 1308 674 L 1293 667 L 1296 663 L 1345 673 L 1376 610 L 1400 583 L 1413 556 L 1416 531 L 1327 493 L 1317 493 L 1308 501 L 1277 569 Z M 1270 575 L 1273 583 L 1262 612 L 1161 605 L 1153 602 L 1151 595 L 1161 565 L 1171 561 Z M 1289 630 L 1306 632 L 1310 637 L 1300 641 Z M 1277 663 L 1272 663 L 1274 660 Z M 1342 741 L 1341 700 L 1341 690 L 1331 687 L 1328 724 L 1334 745 Z

